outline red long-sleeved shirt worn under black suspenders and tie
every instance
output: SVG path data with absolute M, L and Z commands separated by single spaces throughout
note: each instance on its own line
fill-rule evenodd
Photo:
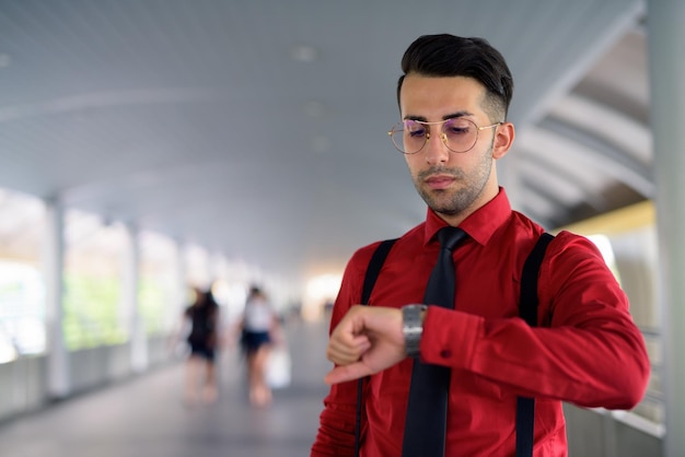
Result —
M 421 303 L 445 223 L 426 222 L 391 250 L 370 305 Z M 630 409 L 647 388 L 650 364 L 628 300 L 590 241 L 569 232 L 552 242 L 539 270 L 538 325 L 519 318 L 521 271 L 544 230 L 511 210 L 503 189 L 460 225 L 469 237 L 454 250 L 454 309 L 429 306 L 420 353 L 452 368 L 446 456 L 514 456 L 518 396 L 535 397 L 535 456 L 566 456 L 561 401 Z M 361 300 L 379 243 L 350 259 L 330 328 Z M 361 456 L 402 455 L 413 360 L 371 376 Z M 312 456 L 351 456 L 357 382 L 334 385 L 324 400 Z

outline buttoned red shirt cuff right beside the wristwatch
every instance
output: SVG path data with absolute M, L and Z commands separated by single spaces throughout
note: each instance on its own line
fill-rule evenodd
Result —
M 429 306 L 423 319 L 421 362 L 452 368 L 467 368 L 476 341 L 483 335 L 485 319 L 480 316 Z

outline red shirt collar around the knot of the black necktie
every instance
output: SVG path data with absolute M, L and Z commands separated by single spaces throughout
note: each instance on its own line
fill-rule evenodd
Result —
M 466 218 L 458 225 L 477 243 L 487 244 L 490 236 L 509 219 L 511 215 L 511 204 L 504 188 L 500 187 L 497 196 L 478 208 L 474 213 Z M 436 236 L 436 233 L 448 224 L 440 219 L 438 214 L 430 208 L 426 215 L 426 225 L 423 233 L 423 245 L 428 245 Z

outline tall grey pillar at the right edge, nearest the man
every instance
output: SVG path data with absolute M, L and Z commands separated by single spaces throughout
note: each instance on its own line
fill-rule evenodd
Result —
M 666 457 L 685 449 L 685 1 L 648 1 Z

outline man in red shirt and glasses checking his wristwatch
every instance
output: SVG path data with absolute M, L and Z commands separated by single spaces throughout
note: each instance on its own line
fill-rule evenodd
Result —
M 432 35 L 410 45 L 402 69 L 402 121 L 391 134 L 427 218 L 390 250 L 370 306 L 357 304 L 379 243 L 347 266 L 327 348 L 336 366 L 325 378 L 330 394 L 312 456 L 353 454 L 355 379 L 364 376 L 360 455 L 410 454 L 403 441 L 419 363 L 449 368 L 444 455 L 515 455 L 516 401 L 534 397 L 534 455 L 566 456 L 561 401 L 629 409 L 645 394 L 649 360 L 626 295 L 591 242 L 561 232 L 539 268 L 538 327 L 519 317 L 523 263 L 544 228 L 512 211 L 497 181 L 497 161 L 514 140 L 507 63 L 484 39 Z M 452 254 L 453 306 L 425 303 L 417 331 L 406 316 L 423 303 L 444 226 L 467 234 Z

